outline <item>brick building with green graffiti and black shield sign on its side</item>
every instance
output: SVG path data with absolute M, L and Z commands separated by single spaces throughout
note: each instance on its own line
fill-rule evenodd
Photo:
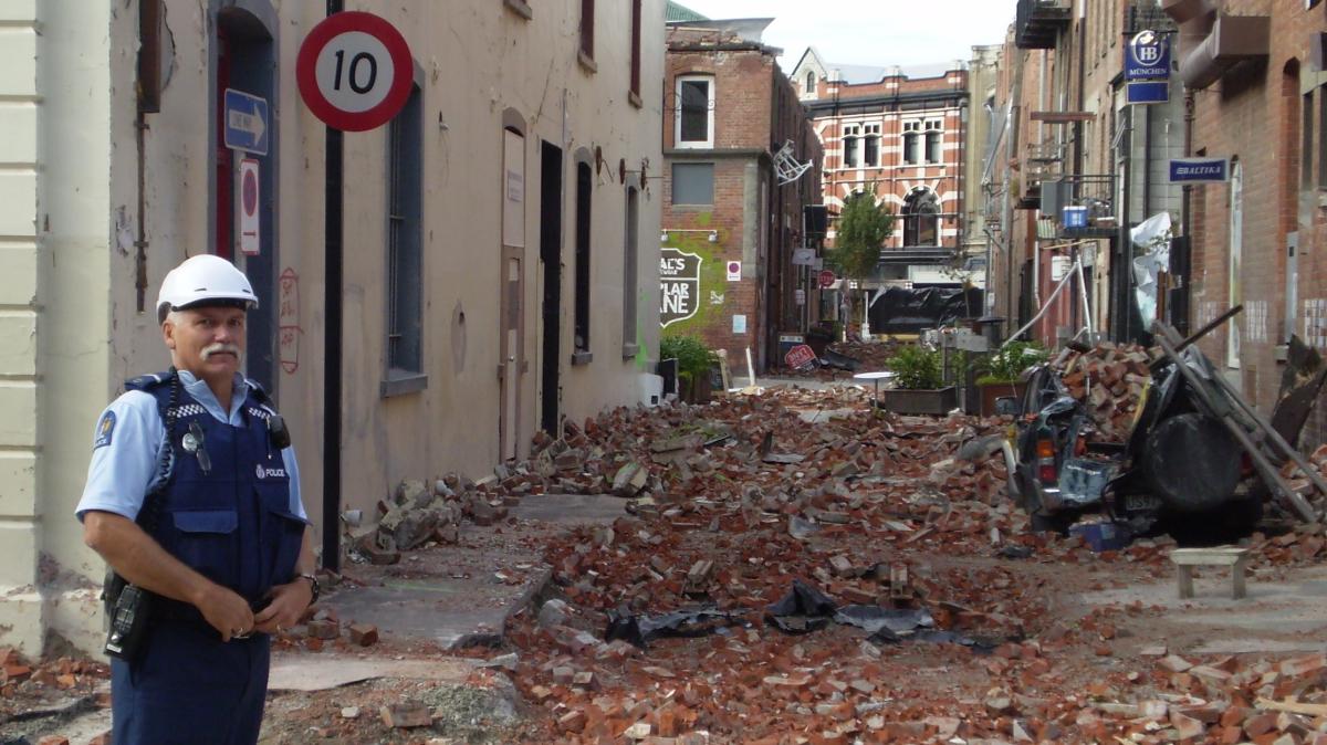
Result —
M 815 272 L 792 261 L 815 248 L 803 213 L 820 201 L 820 142 L 760 42 L 770 19 L 669 12 L 661 323 L 766 370 L 780 333 L 817 321 Z

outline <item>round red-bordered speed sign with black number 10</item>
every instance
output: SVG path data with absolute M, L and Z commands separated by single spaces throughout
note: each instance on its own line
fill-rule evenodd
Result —
M 313 27 L 295 61 L 300 95 L 329 127 L 365 131 L 401 111 L 414 61 L 401 32 L 361 11 L 333 13 Z

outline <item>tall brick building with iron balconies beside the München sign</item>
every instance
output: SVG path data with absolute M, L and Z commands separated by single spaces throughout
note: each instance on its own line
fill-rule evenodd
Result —
M 1009 331 L 1032 323 L 1027 334 L 1047 345 L 1143 337 L 1129 231 L 1158 213 L 1180 223 L 1166 162 L 1182 155 L 1184 94 L 1172 76 L 1166 101 L 1129 105 L 1125 48 L 1139 32 L 1173 29 L 1154 0 L 1019 1 L 986 167 L 987 300 Z

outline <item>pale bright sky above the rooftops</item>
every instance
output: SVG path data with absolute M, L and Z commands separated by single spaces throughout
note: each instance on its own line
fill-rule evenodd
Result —
M 710 19 L 775 19 L 762 38 L 783 49 L 784 72 L 807 46 L 827 62 L 924 65 L 971 58 L 1002 44 L 1016 0 L 677 0 Z

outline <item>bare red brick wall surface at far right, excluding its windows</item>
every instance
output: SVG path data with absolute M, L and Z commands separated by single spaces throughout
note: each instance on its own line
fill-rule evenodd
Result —
M 1262 411 L 1270 411 L 1281 384 L 1283 365 L 1275 361 L 1286 319 L 1286 239 L 1299 232 L 1299 278 L 1295 333 L 1304 334 L 1306 301 L 1327 298 L 1327 212 L 1316 207 L 1319 191 L 1300 192 L 1299 81 L 1312 76 L 1311 33 L 1327 30 L 1322 7 L 1306 11 L 1300 0 L 1230 0 L 1234 15 L 1271 15 L 1271 54 L 1266 62 L 1246 64 L 1196 93 L 1194 151 L 1237 156 L 1243 170 L 1243 251 L 1239 286 L 1246 312 L 1237 317 L 1242 386 Z M 1324 89 L 1314 91 L 1314 107 Z M 1314 147 L 1320 147 L 1323 122 L 1314 111 Z M 1316 158 L 1314 159 L 1316 162 Z M 1314 164 L 1316 168 L 1316 164 Z M 1318 183 L 1314 174 L 1314 183 Z M 1300 224 L 1300 199 L 1311 212 Z M 1193 190 L 1193 323 L 1223 312 L 1230 302 L 1229 220 L 1230 188 L 1223 184 Z M 1202 350 L 1225 367 L 1226 334 L 1210 334 Z M 1322 349 L 1319 339 L 1319 353 Z M 1327 416 L 1320 400 L 1304 431 L 1304 443 L 1327 437 Z

